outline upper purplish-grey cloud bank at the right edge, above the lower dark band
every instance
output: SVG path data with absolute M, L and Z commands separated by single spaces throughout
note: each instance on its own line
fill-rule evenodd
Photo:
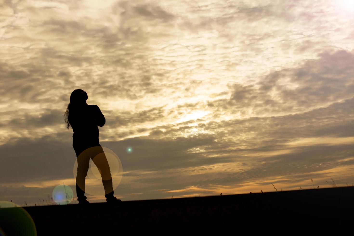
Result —
M 313 109 L 352 97 L 353 77 L 353 53 L 322 52 L 318 60 L 269 73 L 256 84 L 234 84 L 228 104 L 255 115 Z

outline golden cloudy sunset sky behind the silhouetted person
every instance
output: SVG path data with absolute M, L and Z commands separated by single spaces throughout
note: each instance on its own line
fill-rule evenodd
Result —
M 76 193 L 78 88 L 122 201 L 353 185 L 353 16 L 352 0 L 0 0 L 0 200 Z

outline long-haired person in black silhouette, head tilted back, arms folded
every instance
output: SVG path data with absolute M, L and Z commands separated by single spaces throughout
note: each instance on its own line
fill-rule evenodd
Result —
M 88 96 L 84 90 L 75 89 L 70 95 L 70 103 L 64 114 L 65 122 L 73 128 L 73 148 L 78 160 L 78 172 L 76 175 L 76 195 L 78 195 L 79 203 L 89 203 L 85 196 L 85 178 L 89 170 L 90 159 L 92 159 L 97 166 L 102 176 L 102 183 L 104 187 L 105 197 L 107 202 L 121 202 L 113 196 L 112 176 L 110 174 L 109 165 L 105 155 L 94 157 L 104 152 L 102 146 L 99 144 L 98 127 L 102 127 L 106 120 L 101 110 L 97 105 L 89 105 L 86 103 Z M 84 152 L 90 147 L 96 148 L 96 152 Z M 91 150 L 91 149 L 90 149 Z M 98 153 L 97 153 L 98 150 Z

